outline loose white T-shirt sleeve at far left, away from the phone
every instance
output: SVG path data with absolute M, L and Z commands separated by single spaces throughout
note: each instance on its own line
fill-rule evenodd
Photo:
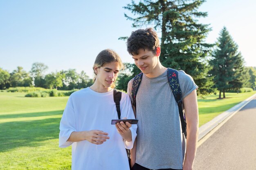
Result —
M 76 131 L 76 121 L 74 106 L 72 101 L 72 95 L 67 101 L 66 108 L 63 112 L 60 122 L 60 134 L 59 134 L 59 147 L 65 148 L 70 146 L 73 142 L 67 141 L 71 133 Z

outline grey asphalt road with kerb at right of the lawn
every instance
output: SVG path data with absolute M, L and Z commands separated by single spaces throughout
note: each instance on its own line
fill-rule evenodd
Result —
M 194 170 L 256 170 L 256 97 L 199 146 Z

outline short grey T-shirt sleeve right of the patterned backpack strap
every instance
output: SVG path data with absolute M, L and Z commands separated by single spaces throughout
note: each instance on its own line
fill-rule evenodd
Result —
M 182 98 L 184 99 L 187 95 L 189 95 L 194 90 L 198 89 L 198 86 L 195 84 L 193 78 L 186 74 L 184 71 L 179 71 L 179 83 L 180 89 L 182 92 Z

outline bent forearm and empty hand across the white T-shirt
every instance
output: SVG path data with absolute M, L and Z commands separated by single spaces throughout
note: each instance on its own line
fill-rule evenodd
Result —
M 72 132 L 67 141 L 77 142 L 87 140 L 92 144 L 103 144 L 109 137 L 108 133 L 101 130 L 90 130 L 90 131 L 81 131 L 81 132 Z

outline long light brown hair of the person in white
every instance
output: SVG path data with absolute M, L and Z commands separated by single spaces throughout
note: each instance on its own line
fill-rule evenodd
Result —
M 96 81 L 96 77 L 97 77 L 97 73 L 94 70 L 94 67 L 101 67 L 104 64 L 110 63 L 110 62 L 118 62 L 119 66 L 120 66 L 120 70 L 124 68 L 124 65 L 121 61 L 120 56 L 113 50 L 111 49 L 106 49 L 106 50 L 102 50 L 96 57 L 94 65 L 92 67 L 93 72 L 94 72 L 94 78 L 93 81 Z M 111 88 L 115 88 L 115 84 L 114 82 L 111 84 L 110 86 Z

